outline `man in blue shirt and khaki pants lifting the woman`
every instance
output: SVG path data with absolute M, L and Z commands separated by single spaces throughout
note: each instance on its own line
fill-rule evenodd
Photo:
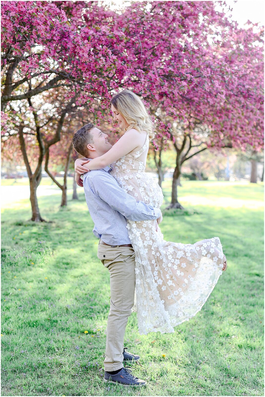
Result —
M 94 124 L 80 128 L 73 137 L 75 150 L 84 158 L 102 156 L 111 148 L 108 135 Z M 86 203 L 94 222 L 93 233 L 100 239 L 98 258 L 110 274 L 110 310 L 106 335 L 104 381 L 125 386 L 143 386 L 123 367 L 123 361 L 138 360 L 138 355 L 125 351 L 123 339 L 128 317 L 134 305 L 135 253 L 128 235 L 126 219 L 161 222 L 161 211 L 127 194 L 111 176 L 111 168 L 94 170 L 84 174 L 83 187 Z M 78 177 L 79 179 L 79 177 Z

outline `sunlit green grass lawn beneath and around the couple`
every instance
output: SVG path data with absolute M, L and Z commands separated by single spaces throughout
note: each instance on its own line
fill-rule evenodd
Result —
M 186 211 L 164 209 L 165 240 L 218 236 L 228 269 L 204 307 L 173 334 L 140 335 L 129 317 L 125 346 L 141 356 L 141 389 L 103 383 L 109 272 L 84 195 L 59 208 L 61 196 L 2 209 L 2 395 L 263 395 L 263 184 L 183 181 Z M 3 189 L 4 192 L 4 189 Z M 87 331 L 85 333 L 85 331 Z

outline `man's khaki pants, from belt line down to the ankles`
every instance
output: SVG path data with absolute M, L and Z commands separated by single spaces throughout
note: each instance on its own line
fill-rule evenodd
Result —
M 98 244 L 98 258 L 109 270 L 110 310 L 107 324 L 105 371 L 123 368 L 123 339 L 134 305 L 135 253 L 131 247 Z

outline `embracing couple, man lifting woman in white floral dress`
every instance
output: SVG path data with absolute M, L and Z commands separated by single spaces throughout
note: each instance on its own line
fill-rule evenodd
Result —
M 80 128 L 73 146 L 84 157 L 76 160 L 75 172 L 99 239 L 98 258 L 110 274 L 104 381 L 142 386 L 146 382 L 123 366 L 140 358 L 123 345 L 131 311 L 137 311 L 141 334 L 174 332 L 201 310 L 227 261 L 218 237 L 195 244 L 163 239 L 163 194 L 144 172 L 155 135 L 152 120 L 132 91 L 121 91 L 110 103 L 125 133 L 111 146 L 99 126 Z

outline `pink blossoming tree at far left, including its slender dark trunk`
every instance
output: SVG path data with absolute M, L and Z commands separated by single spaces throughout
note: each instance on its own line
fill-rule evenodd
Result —
M 4 139 L 19 136 L 30 179 L 31 219 L 39 222 L 43 219 L 36 189 L 44 156 L 60 140 L 65 116 L 73 113 L 73 106 L 108 92 L 116 60 L 115 51 L 111 52 L 109 47 L 115 41 L 118 48 L 119 41 L 124 43 L 124 35 L 115 29 L 113 32 L 111 15 L 104 9 L 99 21 L 89 23 L 93 12 L 98 12 L 93 2 L 3 2 L 1 11 L 1 110 L 5 112 L 2 133 Z M 108 23 L 103 23 L 106 18 Z M 89 90 L 83 95 L 86 85 Z M 53 114 L 50 108 L 45 111 L 51 91 L 60 93 L 64 100 L 58 111 L 53 97 Z M 48 127 L 49 132 L 54 127 L 52 137 Z M 38 146 L 34 172 L 27 155 L 32 143 Z

